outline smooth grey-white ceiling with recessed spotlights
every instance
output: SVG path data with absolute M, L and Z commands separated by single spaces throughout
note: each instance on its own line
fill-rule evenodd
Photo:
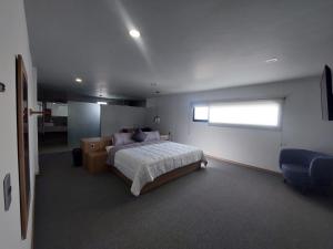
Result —
M 26 12 L 39 85 L 67 93 L 144 98 L 333 65 L 332 0 L 26 0 Z

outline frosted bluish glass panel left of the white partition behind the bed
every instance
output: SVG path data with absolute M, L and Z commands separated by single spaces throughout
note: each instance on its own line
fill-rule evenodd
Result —
M 84 102 L 68 103 L 68 145 L 80 147 L 81 138 L 101 135 L 101 108 L 98 104 Z

